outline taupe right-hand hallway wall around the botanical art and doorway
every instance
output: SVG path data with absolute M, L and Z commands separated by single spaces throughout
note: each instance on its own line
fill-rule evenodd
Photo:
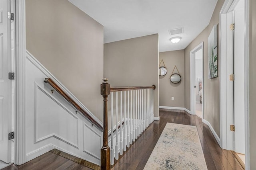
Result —
M 185 108 L 190 110 L 190 51 L 201 42 L 204 42 L 204 119 L 210 122 L 214 131 L 220 136 L 220 78 L 208 79 L 208 36 L 212 27 L 219 23 L 220 9 L 224 0 L 218 0 L 209 25 L 185 48 Z M 220 34 L 217 25 L 218 45 Z M 218 48 L 218 57 L 219 55 Z M 218 60 L 218 66 L 220 60 Z

